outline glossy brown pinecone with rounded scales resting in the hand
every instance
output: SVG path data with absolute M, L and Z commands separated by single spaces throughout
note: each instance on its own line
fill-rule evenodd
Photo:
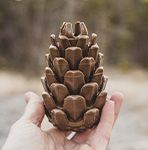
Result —
M 108 78 L 103 75 L 103 54 L 96 38 L 93 33 L 89 42 L 87 28 L 79 21 L 74 33 L 71 23 L 62 24 L 59 42 L 54 34 L 50 36 L 42 97 L 46 116 L 61 130 L 86 130 L 100 120 Z

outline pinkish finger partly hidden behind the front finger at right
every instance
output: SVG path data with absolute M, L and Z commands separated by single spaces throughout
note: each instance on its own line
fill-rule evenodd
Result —
M 120 92 L 116 92 L 111 96 L 110 100 L 114 101 L 115 103 L 115 119 L 114 119 L 114 123 L 115 123 L 123 102 L 123 94 Z

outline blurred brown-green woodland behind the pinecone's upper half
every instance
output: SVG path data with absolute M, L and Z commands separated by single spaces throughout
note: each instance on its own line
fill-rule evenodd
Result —
M 98 34 L 106 63 L 148 68 L 148 0 L 0 0 L 0 68 L 43 72 L 50 34 L 76 20 Z

